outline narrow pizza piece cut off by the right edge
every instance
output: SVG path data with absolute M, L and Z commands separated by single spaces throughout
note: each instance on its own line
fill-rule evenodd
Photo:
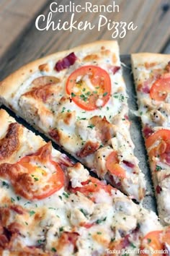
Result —
M 143 136 L 162 223 L 170 224 L 170 55 L 133 54 Z

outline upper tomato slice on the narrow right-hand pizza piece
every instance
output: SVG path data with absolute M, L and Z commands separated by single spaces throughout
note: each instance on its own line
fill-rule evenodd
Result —
M 166 73 L 153 83 L 150 96 L 155 101 L 164 101 L 170 93 L 170 74 Z

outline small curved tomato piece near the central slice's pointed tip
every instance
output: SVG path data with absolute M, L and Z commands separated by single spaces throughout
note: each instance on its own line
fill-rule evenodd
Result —
M 123 179 L 126 177 L 125 169 L 120 166 L 116 151 L 113 151 L 108 155 L 106 168 L 111 172 L 111 174 L 114 174 L 115 176 Z

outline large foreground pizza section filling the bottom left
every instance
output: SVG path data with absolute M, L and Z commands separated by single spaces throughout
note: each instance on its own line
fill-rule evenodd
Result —
M 155 213 L 4 110 L 0 122 L 1 255 L 168 255 L 170 229 Z

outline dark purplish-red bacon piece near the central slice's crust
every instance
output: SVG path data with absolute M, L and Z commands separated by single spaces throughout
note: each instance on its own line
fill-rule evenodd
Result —
M 76 62 L 76 55 L 74 53 L 68 54 L 65 58 L 59 60 L 55 64 L 55 70 L 60 72 L 63 69 L 67 69 L 68 67 L 72 66 Z

